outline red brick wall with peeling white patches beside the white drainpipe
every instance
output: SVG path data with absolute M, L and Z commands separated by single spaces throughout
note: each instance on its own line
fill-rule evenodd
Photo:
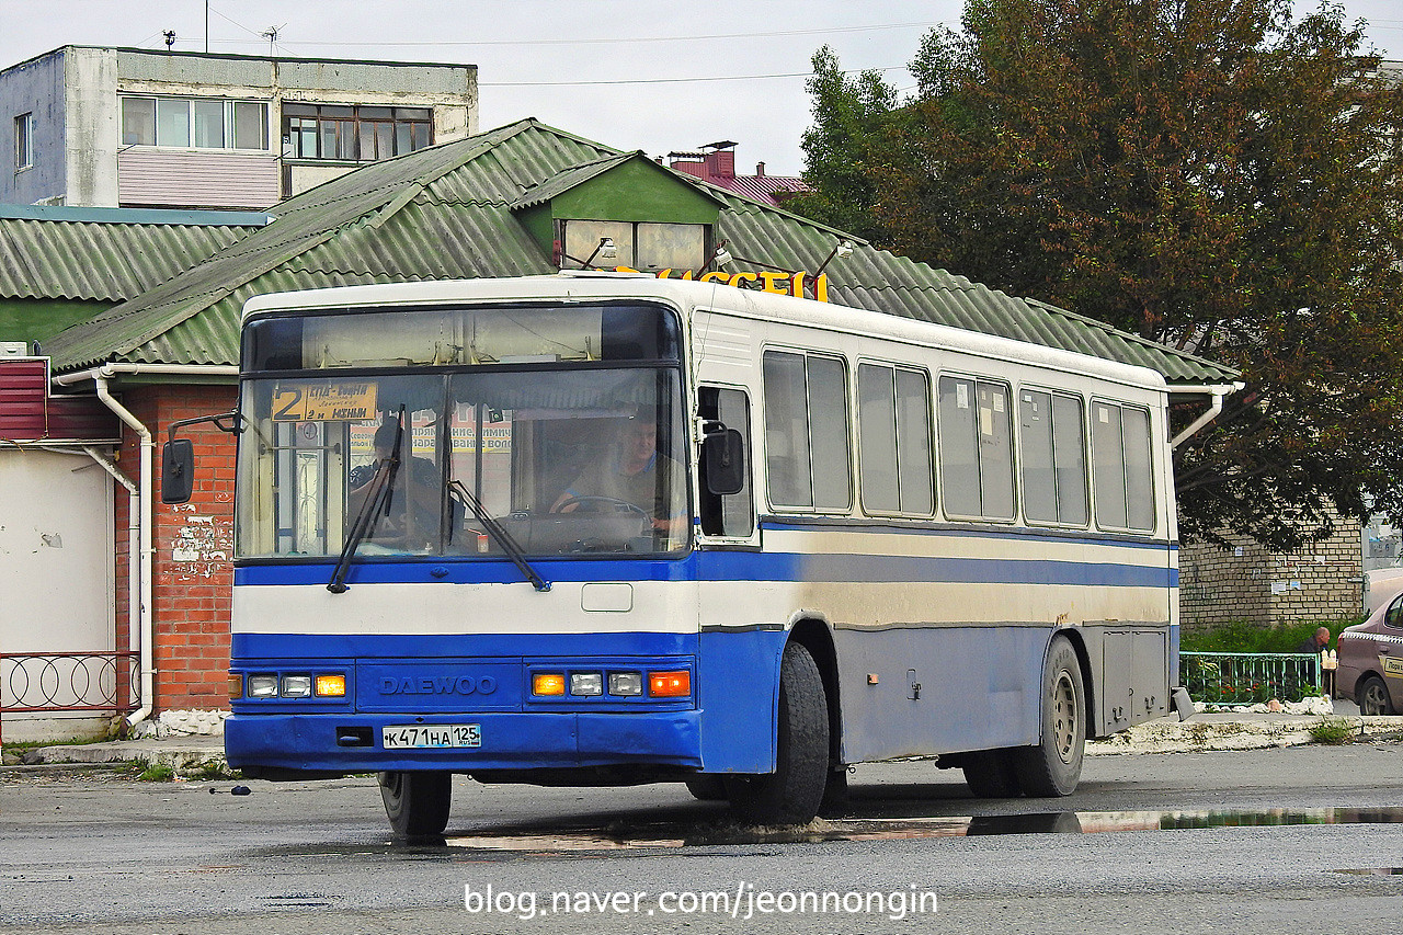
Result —
M 160 446 L 180 418 L 227 413 L 231 386 L 156 385 L 116 394 L 156 439 L 156 529 L 153 609 L 156 614 L 156 710 L 229 706 L 229 597 L 233 588 L 234 437 L 213 425 L 181 435 L 195 442 L 195 496 L 188 504 L 160 503 Z M 122 435 L 118 463 L 140 476 L 139 439 Z M 118 642 L 126 640 L 126 490 L 116 497 Z

